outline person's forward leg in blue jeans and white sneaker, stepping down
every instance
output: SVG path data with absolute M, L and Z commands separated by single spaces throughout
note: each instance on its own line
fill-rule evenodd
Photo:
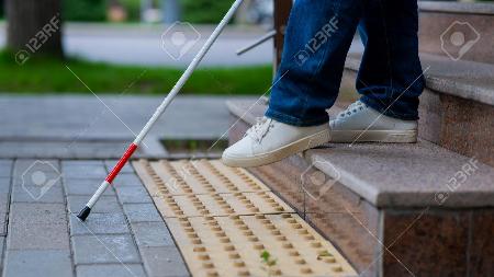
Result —
M 296 0 L 266 117 L 223 152 L 229 166 L 260 166 L 329 140 L 326 108 L 366 0 Z

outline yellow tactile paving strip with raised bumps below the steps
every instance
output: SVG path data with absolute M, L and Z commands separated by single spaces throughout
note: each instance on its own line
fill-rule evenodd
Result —
M 193 276 L 357 276 L 330 242 L 245 170 L 204 160 L 134 166 Z M 183 166 L 190 174 L 180 182 L 188 186 L 170 191 L 165 183 Z M 262 264 L 263 251 L 276 265 Z

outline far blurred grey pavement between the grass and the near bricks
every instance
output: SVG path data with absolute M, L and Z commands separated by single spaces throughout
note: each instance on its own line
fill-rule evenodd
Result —
M 229 128 L 223 96 L 179 96 L 139 154 L 166 154 L 161 139 L 216 140 Z M 120 158 L 162 96 L 0 96 L 1 158 Z M 225 138 L 226 139 L 226 138 Z

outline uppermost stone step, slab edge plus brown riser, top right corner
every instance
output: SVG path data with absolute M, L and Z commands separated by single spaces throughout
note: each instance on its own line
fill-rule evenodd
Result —
M 494 4 L 419 2 L 420 53 L 494 64 Z

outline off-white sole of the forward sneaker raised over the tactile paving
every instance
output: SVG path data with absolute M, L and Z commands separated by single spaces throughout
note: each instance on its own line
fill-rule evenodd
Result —
M 329 130 L 323 130 L 311 135 L 308 137 L 302 138 L 297 141 L 294 141 L 290 145 L 287 145 L 282 148 L 273 150 L 268 153 L 258 154 L 249 158 L 232 158 L 232 157 L 223 157 L 222 162 L 232 168 L 256 168 L 266 164 L 270 164 L 273 162 L 278 162 L 283 160 L 287 157 L 290 157 L 294 153 L 302 152 L 304 150 L 322 146 L 326 142 L 329 142 L 330 135 Z

